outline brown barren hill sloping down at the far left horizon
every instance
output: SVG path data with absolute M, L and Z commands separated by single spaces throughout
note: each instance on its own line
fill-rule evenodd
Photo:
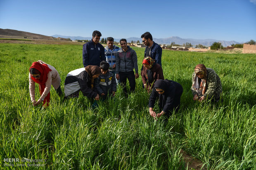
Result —
M 31 32 L 24 32 L 24 31 L 18 31 L 18 30 L 11 30 L 11 29 L 1 29 L 0 28 L 0 35 L 4 36 L 10 36 L 10 37 L 27 37 L 28 39 L 47 39 L 47 40 L 68 40 L 64 38 L 55 38 L 50 36 L 45 36 L 41 34 L 34 34 Z

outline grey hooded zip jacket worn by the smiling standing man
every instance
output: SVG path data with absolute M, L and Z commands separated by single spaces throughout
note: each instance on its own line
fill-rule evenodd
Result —
M 128 46 L 126 52 L 122 50 L 116 55 L 116 74 L 119 74 L 119 71 L 133 71 L 133 68 L 135 69 L 135 73 L 138 73 L 137 54 Z

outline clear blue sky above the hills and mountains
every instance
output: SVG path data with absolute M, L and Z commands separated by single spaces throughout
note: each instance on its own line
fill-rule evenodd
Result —
M 0 28 L 51 36 L 256 40 L 256 0 L 0 0 Z

